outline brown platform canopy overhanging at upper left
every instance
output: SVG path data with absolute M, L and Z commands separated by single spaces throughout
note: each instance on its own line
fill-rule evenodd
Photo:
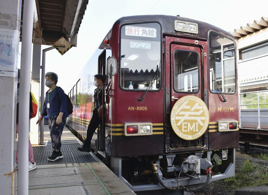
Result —
M 23 3 L 21 28 L 23 27 Z M 76 46 L 77 33 L 86 11 L 88 0 L 35 0 L 33 43 L 41 38 L 43 45 L 55 45 L 61 37 Z M 22 29 L 21 29 L 22 32 Z

